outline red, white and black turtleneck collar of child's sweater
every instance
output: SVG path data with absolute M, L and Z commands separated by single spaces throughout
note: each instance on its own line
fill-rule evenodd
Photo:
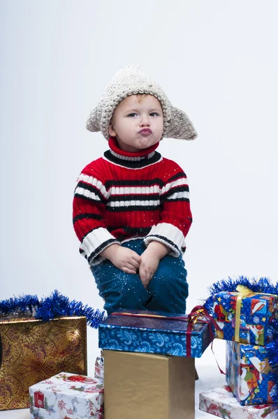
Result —
M 120 149 L 115 137 L 109 138 L 108 145 L 110 150 L 104 153 L 105 158 L 119 166 L 143 168 L 161 159 L 161 155 L 155 151 L 159 142 L 138 152 L 125 152 Z

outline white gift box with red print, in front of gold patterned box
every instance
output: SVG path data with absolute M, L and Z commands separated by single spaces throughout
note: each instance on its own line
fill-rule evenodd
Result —
M 31 419 L 103 419 L 103 381 L 61 372 L 29 388 Z

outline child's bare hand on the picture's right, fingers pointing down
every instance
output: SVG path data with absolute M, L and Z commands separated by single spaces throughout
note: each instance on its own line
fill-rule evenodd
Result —
M 160 242 L 152 241 L 147 249 L 141 255 L 141 263 L 139 267 L 139 277 L 142 284 L 147 288 L 149 281 L 154 276 L 160 260 L 166 256 L 170 248 Z

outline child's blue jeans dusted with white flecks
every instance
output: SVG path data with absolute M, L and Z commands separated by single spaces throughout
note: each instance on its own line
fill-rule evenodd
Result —
M 130 240 L 123 247 L 141 255 L 145 251 L 142 239 Z M 185 313 L 188 284 L 182 255 L 179 258 L 165 256 L 159 262 L 147 289 L 138 274 L 126 274 L 105 259 L 92 266 L 99 295 L 105 300 L 104 309 L 108 314 L 119 309 L 166 311 Z

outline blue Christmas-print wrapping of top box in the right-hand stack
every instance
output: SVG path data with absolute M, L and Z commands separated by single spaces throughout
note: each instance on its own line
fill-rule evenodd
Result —
M 235 340 L 236 300 L 239 293 L 221 291 L 214 295 L 212 317 L 221 328 L 216 337 L 228 341 Z M 273 339 L 270 323 L 278 318 L 277 296 L 245 294 L 240 309 L 240 342 L 243 344 L 265 345 Z

